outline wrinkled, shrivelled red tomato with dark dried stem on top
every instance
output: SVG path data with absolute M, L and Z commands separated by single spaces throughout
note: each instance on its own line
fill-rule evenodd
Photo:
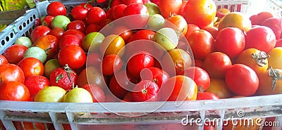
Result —
M 50 85 L 59 86 L 66 91 L 73 89 L 76 86 L 78 74 L 70 67 L 64 66 L 53 70 L 50 74 Z

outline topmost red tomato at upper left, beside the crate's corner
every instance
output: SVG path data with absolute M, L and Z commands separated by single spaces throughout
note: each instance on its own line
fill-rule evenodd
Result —
M 52 15 L 54 17 L 56 15 L 66 15 L 66 8 L 61 2 L 54 1 L 47 6 L 47 14 Z

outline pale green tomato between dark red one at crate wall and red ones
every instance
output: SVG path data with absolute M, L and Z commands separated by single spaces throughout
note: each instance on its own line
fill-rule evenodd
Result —
M 30 48 L 27 48 L 25 53 L 23 53 L 23 58 L 37 58 L 40 60 L 42 63 L 45 63 L 47 60 L 47 53 L 42 49 L 37 46 L 32 46 Z

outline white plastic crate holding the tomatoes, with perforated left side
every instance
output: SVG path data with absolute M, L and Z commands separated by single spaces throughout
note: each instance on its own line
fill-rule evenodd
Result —
M 81 1 L 80 1 L 81 2 Z M 248 1 L 219 1 L 216 5 L 248 5 Z M 233 3 L 231 3 L 233 2 Z M 28 36 L 38 18 L 46 15 L 44 10 L 48 1 L 37 4 L 15 22 L 0 32 L 0 53 L 13 44 L 22 35 Z M 68 3 L 70 4 L 70 3 Z M 75 4 L 75 3 L 72 3 Z M 71 5 L 71 4 L 70 4 Z M 242 8 L 241 8 L 242 9 Z M 243 10 L 240 10 L 244 12 Z M 246 10 L 247 11 L 247 10 Z M 85 112 L 78 115 L 78 112 Z M 63 129 L 62 124 L 71 124 L 71 129 L 169 129 L 166 124 L 178 124 L 178 130 L 203 129 L 193 125 L 182 126 L 183 119 L 219 119 L 216 129 L 223 128 L 226 119 L 275 117 L 276 125 L 271 129 L 282 129 L 282 94 L 272 96 L 255 96 L 247 98 L 231 98 L 221 100 L 200 100 L 178 102 L 151 103 L 35 103 L 0 101 L 0 119 L 6 129 L 16 129 L 13 121 L 51 123 L 55 129 Z M 204 122 L 198 122 L 203 124 Z M 106 127 L 108 125 L 109 127 Z M 35 126 L 35 124 L 34 124 Z M 45 125 L 47 127 L 47 125 Z M 259 129 L 263 129 L 261 126 Z

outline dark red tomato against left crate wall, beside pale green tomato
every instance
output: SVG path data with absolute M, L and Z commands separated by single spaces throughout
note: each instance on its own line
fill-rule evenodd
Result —
M 23 59 L 23 54 L 27 47 L 20 44 L 9 46 L 3 53 L 3 56 L 8 60 L 8 63 L 17 64 Z

